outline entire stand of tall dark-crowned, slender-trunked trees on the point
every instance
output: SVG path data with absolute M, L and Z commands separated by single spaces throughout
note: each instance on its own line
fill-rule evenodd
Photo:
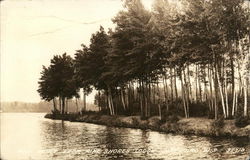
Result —
M 110 115 L 249 116 L 248 1 L 155 0 L 150 11 L 123 2 L 115 29 L 101 26 L 74 58 L 43 67 L 38 92 L 54 110 L 64 114 L 80 89 L 85 104 L 94 88 Z

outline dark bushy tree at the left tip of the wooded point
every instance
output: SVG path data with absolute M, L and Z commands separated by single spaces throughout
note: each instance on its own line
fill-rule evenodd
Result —
M 63 55 L 54 56 L 48 68 L 43 67 L 43 72 L 41 72 L 41 78 L 38 82 L 38 92 L 42 99 L 49 101 L 59 97 L 62 114 L 65 113 L 65 100 L 78 96 L 78 89 L 73 76 L 73 60 L 64 53 Z

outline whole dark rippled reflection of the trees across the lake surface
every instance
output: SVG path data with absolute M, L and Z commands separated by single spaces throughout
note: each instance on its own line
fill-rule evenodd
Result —
M 197 136 L 176 136 L 171 134 L 159 134 L 157 132 L 143 131 L 129 128 L 115 128 L 86 123 L 70 123 L 63 121 L 44 121 L 41 124 L 42 147 L 50 150 L 49 157 L 53 154 L 58 157 L 84 157 L 90 159 L 143 159 L 145 157 L 168 157 L 169 150 L 176 148 L 182 156 L 190 156 L 185 149 L 200 149 L 197 153 L 200 157 L 208 158 L 234 158 L 238 155 L 228 155 L 228 148 L 245 147 L 245 155 L 250 154 L 248 139 L 220 139 Z M 208 149 L 218 149 L 216 152 L 207 153 Z M 99 149 L 99 153 L 86 153 L 88 149 Z M 115 149 L 128 149 L 116 153 Z M 142 149 L 142 150 L 140 150 Z M 151 153 L 142 152 L 152 149 Z M 202 152 L 202 149 L 204 151 Z M 77 150 L 77 151 L 76 151 Z M 182 152 L 183 150 L 183 152 Z M 191 152 L 191 151 L 190 151 Z M 172 156 L 178 156 L 170 152 Z M 196 154 L 194 152 L 194 154 Z M 198 156 L 198 157 L 199 157 Z M 240 155 L 241 158 L 244 155 Z M 48 155 L 45 155 L 48 157 Z M 57 157 L 57 158 L 58 158 Z M 68 157 L 70 159 L 70 157 Z

